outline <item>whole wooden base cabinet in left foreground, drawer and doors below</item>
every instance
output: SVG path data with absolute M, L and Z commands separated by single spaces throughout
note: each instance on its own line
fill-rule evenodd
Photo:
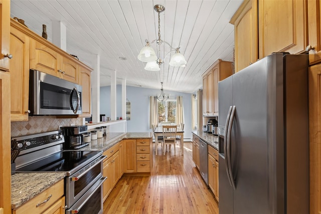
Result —
M 12 210 L 20 213 L 65 213 L 64 180 L 58 181 L 28 202 Z

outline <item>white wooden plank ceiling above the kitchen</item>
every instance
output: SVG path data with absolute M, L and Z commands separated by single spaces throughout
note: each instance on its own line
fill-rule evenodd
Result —
M 202 88 L 201 75 L 217 60 L 233 61 L 234 26 L 229 24 L 242 0 L 11 0 L 11 17 L 25 20 L 29 29 L 42 34 L 52 22 L 67 29 L 67 52 L 92 68 L 100 57 L 100 86 L 110 84 L 111 72 L 126 84 L 164 91 L 193 93 Z M 161 71 L 144 70 L 137 59 L 145 40 L 158 38 L 156 4 L 161 13 L 161 39 L 180 51 L 186 67 L 169 66 L 169 47 L 161 45 L 165 63 Z M 155 43 L 151 45 L 155 50 Z M 121 60 L 119 57 L 125 57 Z

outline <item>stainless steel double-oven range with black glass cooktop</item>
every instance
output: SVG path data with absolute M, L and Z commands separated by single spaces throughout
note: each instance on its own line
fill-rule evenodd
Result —
M 66 172 L 66 213 L 102 213 L 102 151 L 63 150 L 63 130 L 12 139 L 16 172 Z

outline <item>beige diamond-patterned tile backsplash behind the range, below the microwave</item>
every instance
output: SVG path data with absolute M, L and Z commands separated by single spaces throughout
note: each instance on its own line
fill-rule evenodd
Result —
M 23 136 L 41 132 L 55 131 L 59 125 L 81 125 L 83 118 L 56 118 L 56 116 L 32 116 L 28 121 L 11 122 L 11 136 Z

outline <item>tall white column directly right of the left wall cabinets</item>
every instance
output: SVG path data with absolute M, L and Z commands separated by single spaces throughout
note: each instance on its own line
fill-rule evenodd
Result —
M 91 113 L 92 122 L 100 122 L 100 56 L 97 55 L 97 62 L 94 64 L 94 70 L 91 72 Z

